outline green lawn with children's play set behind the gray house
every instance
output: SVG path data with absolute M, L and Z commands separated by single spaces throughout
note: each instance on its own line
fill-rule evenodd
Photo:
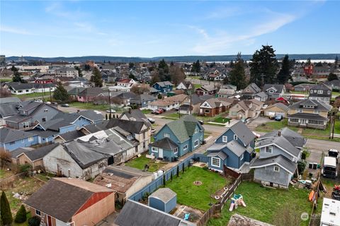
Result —
M 230 216 L 234 213 L 273 224 L 276 214 L 280 213 L 280 208 L 287 204 L 295 206 L 299 214 L 304 212 L 310 214 L 312 211 L 312 203 L 308 201 L 309 191 L 306 189 L 290 187 L 286 191 L 283 189 L 264 188 L 254 182 L 242 182 L 235 191 L 235 194 L 242 194 L 246 207 L 239 206 L 237 210 L 229 212 L 230 201 L 227 201 L 220 218 L 211 218 L 207 225 L 227 225 Z M 300 225 L 308 225 L 308 220 L 302 221 Z

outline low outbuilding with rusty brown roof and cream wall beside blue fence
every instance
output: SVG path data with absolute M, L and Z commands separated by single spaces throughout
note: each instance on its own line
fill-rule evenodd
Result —
M 130 196 L 151 183 L 152 177 L 152 172 L 125 165 L 111 165 L 94 179 L 94 184 L 113 189 L 116 199 L 126 202 Z

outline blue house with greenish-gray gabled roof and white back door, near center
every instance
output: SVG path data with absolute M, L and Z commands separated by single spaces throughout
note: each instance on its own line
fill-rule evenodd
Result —
M 149 155 L 174 161 L 186 153 L 196 150 L 204 140 L 204 128 L 197 119 L 187 115 L 165 124 L 149 144 Z

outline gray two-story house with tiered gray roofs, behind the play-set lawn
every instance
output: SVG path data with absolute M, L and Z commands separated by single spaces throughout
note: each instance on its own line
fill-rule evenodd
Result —
M 299 133 L 284 128 L 259 138 L 259 158 L 250 166 L 254 171 L 254 181 L 266 186 L 288 188 L 301 158 L 305 138 Z

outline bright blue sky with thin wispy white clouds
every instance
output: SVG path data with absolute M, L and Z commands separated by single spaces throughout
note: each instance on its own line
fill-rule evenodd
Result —
M 0 54 L 340 53 L 340 1 L 0 1 Z

